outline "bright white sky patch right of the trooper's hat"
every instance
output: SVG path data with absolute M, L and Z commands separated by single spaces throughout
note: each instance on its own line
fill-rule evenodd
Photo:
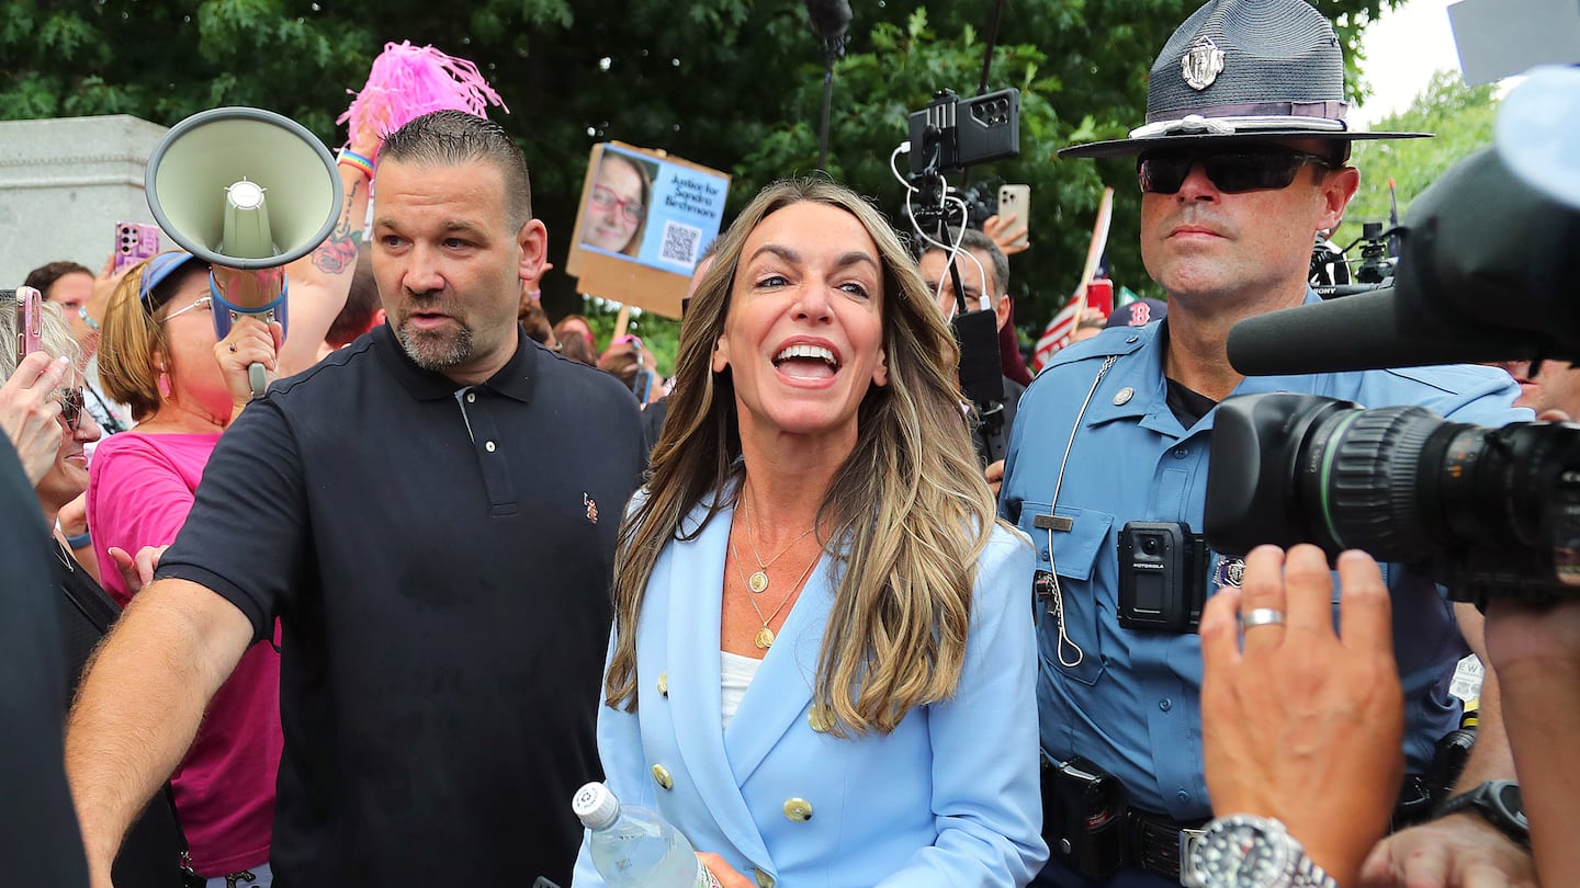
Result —
M 1371 84 L 1371 98 L 1351 114 L 1364 125 L 1409 107 L 1435 71 L 1460 70 L 1454 28 L 1449 27 L 1449 0 L 1408 0 L 1395 9 L 1384 9 L 1362 40 L 1367 49 L 1362 73 Z

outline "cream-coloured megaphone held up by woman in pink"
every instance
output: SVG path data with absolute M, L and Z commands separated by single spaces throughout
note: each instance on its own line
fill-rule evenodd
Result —
M 329 149 L 258 107 L 215 107 L 172 126 L 149 156 L 144 185 L 160 228 L 210 264 L 221 340 L 242 314 L 286 324 L 284 265 L 329 237 L 343 202 Z M 264 393 L 262 363 L 248 367 L 248 381 Z

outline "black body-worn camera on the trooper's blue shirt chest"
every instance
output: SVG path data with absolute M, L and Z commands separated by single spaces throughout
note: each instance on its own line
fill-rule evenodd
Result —
M 1128 521 L 1119 531 L 1119 624 L 1191 632 L 1207 589 L 1207 547 L 1190 525 Z

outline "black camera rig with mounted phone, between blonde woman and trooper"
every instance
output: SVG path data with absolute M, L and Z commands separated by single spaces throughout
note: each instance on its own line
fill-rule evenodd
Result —
M 927 107 L 910 114 L 908 130 L 905 215 L 924 242 L 950 246 L 948 226 L 967 228 L 975 221 L 981 228 L 992 210 L 980 194 L 981 185 L 957 191 L 950 188 L 945 175 L 1021 153 L 1021 92 L 1008 88 L 959 98 L 942 90 Z M 959 269 L 953 262 L 950 275 L 954 292 L 964 294 Z M 991 433 L 1003 422 L 997 316 L 992 310 L 964 302 L 959 308 L 950 324 L 961 346 L 961 389 Z

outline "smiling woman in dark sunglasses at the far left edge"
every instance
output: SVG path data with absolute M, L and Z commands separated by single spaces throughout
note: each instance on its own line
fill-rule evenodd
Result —
M 43 512 L 43 523 L 38 526 L 41 529 L 55 528 L 52 539 L 47 542 L 41 539 L 40 544 L 51 550 L 47 558 L 52 580 L 51 594 L 60 608 L 60 624 L 65 630 L 62 642 L 65 643 L 66 672 L 58 676 L 57 687 L 66 689 L 70 698 L 70 694 L 76 692 L 88 656 L 109 632 L 120 608 L 76 564 L 65 536 L 55 526 L 55 517 L 62 506 L 87 490 L 88 469 L 82 447 L 98 441 L 100 427 L 84 408 L 81 351 L 71 337 L 71 327 L 54 305 L 44 305 L 43 319 L 40 351 L 27 356 L 22 365 L 17 363 L 11 348 L 0 349 L 0 379 L 6 381 L 3 397 L 0 397 L 3 401 L 0 403 L 0 425 L 5 427 L 9 442 L 16 446 L 24 466 L 28 468 L 28 480 L 33 482 L 38 507 Z M 0 299 L 0 341 L 16 341 L 16 300 L 11 297 Z M 28 386 L 22 386 L 24 381 Z M 44 389 L 46 386 L 49 389 Z M 47 420 L 55 435 L 38 435 L 38 430 L 30 423 L 14 422 L 22 412 Z M 47 465 L 43 461 L 46 449 L 52 450 Z M 43 466 L 43 469 L 35 472 L 35 466 Z M 0 659 L 0 662 L 5 660 Z M 122 845 L 112 872 L 115 885 L 120 888 L 179 888 L 182 883 L 180 853 L 175 818 L 164 798 L 156 798 L 142 818 L 133 825 Z

